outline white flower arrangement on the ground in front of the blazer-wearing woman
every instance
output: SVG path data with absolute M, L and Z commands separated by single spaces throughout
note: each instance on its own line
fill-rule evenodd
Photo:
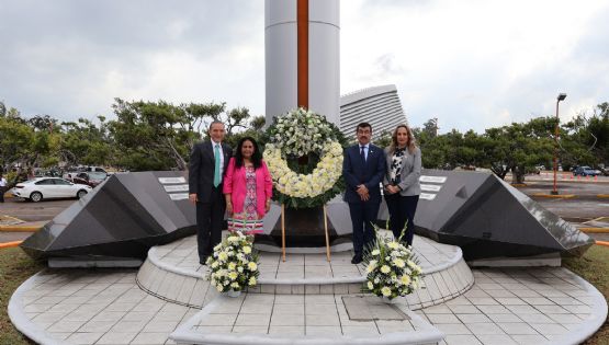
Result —
M 364 255 L 366 283 L 364 291 L 390 300 L 404 297 L 420 287 L 422 269 L 411 246 L 406 248 L 399 239 L 383 237 L 375 226 L 375 241 Z

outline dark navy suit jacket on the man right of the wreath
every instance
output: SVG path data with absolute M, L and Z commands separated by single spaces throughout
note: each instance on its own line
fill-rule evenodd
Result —
M 381 203 L 380 183 L 385 175 L 385 151 L 380 147 L 370 143 L 368 149 L 368 160 L 365 164 L 360 157 L 360 146 L 353 145 L 345 150 L 342 161 L 342 176 L 347 183 L 345 191 L 345 202 L 361 202 L 358 185 L 364 184 L 370 193 L 369 202 Z

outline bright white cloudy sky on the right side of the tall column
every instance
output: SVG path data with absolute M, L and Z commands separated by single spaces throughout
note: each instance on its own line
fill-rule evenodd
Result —
M 444 130 L 481 131 L 527 120 L 531 114 L 552 115 L 559 92 L 569 94 L 561 104 L 566 118 L 580 106 L 606 100 L 609 83 L 599 76 L 609 66 L 607 56 L 594 64 L 579 56 L 602 48 L 582 42 L 594 35 L 607 37 L 607 31 L 600 33 L 594 23 L 605 20 L 608 5 L 606 1 L 359 1 L 342 12 L 342 87 L 396 83 L 413 125 L 438 117 Z M 347 58 L 351 56 L 357 59 Z M 393 76 L 365 67 L 383 56 L 393 57 Z M 371 71 L 376 78 L 369 76 Z M 591 103 L 582 102 L 584 95 L 577 93 L 593 76 L 596 84 L 588 92 L 594 95 L 584 97 Z

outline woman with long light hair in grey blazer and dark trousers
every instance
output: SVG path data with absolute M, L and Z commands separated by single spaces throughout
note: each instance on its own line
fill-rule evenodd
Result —
M 414 219 L 420 195 L 421 156 L 410 127 L 398 125 L 395 128 L 392 143 L 385 153 L 387 169 L 383 186 L 390 211 L 390 228 L 397 239 L 407 223 L 402 241 L 413 245 Z

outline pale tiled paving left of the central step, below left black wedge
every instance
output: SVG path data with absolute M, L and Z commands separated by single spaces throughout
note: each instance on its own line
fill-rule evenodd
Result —
M 198 310 L 146 294 L 135 274 L 41 273 L 21 294 L 23 313 L 37 331 L 65 344 L 172 344 L 168 335 Z

